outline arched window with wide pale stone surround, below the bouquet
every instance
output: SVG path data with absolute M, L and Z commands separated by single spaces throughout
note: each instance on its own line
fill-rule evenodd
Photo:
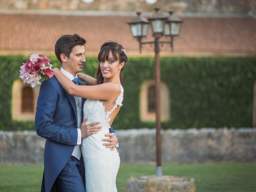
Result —
M 36 115 L 36 102 L 40 86 L 31 88 L 30 84 L 18 79 L 12 86 L 12 119 L 34 120 Z

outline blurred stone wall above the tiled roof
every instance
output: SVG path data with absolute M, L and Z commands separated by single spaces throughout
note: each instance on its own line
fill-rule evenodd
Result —
M 255 0 L 158 0 L 148 4 L 145 0 L 1 0 L 0 9 L 13 10 L 94 10 L 94 11 L 152 11 L 154 7 L 164 11 L 198 13 L 256 13 Z

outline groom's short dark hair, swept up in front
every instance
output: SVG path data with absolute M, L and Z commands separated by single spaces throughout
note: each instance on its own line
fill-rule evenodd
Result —
M 74 48 L 74 46 L 85 45 L 85 44 L 86 44 L 86 40 L 76 33 L 74 35 L 62 35 L 56 41 L 54 52 L 56 57 L 62 64 L 60 59 L 60 54 L 63 53 L 65 56 L 69 58 L 70 53 L 72 52 L 72 49 Z

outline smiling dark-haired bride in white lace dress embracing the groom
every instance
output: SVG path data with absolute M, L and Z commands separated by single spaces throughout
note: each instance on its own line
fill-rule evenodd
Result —
M 86 124 L 100 122 L 102 129 L 82 139 L 82 155 L 86 174 L 86 192 L 115 192 L 116 175 L 120 165 L 120 157 L 116 148 L 103 146 L 102 138 L 109 133 L 120 107 L 124 90 L 122 87 L 122 70 L 128 58 L 122 45 L 116 42 L 104 43 L 98 54 L 100 62 L 96 79 L 78 73 L 78 77 L 90 86 L 78 86 L 64 74 L 54 68 L 55 77 L 62 87 L 71 95 L 88 98 L 84 103 L 84 119 Z

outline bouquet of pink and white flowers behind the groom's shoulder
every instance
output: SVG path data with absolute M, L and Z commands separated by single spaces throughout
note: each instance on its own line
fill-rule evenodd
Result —
M 50 59 L 43 55 L 32 54 L 30 58 L 20 67 L 20 78 L 24 83 L 30 83 L 31 87 L 40 85 L 41 78 L 52 78 L 54 72 Z

